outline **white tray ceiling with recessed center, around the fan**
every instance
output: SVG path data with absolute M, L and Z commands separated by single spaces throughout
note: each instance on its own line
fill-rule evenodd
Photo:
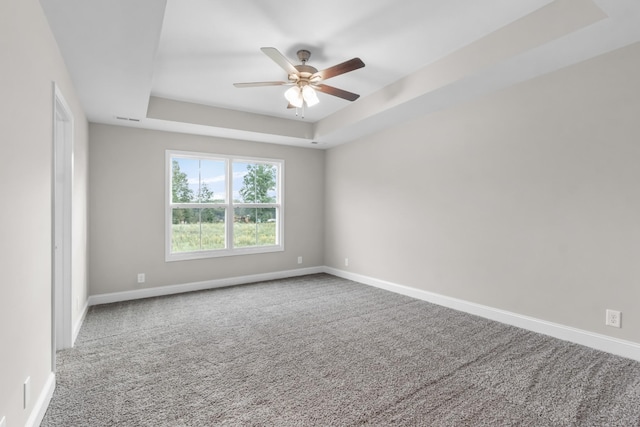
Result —
M 40 1 L 90 121 L 319 148 L 640 41 L 637 0 Z M 286 80 L 266 46 L 361 58 L 327 82 L 360 99 L 235 88 Z

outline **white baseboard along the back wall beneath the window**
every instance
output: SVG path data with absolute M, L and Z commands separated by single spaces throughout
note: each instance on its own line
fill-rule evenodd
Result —
M 202 291 L 206 289 L 223 288 L 225 286 L 244 285 L 265 280 L 286 279 L 288 277 L 305 276 L 307 274 L 323 273 L 324 267 L 309 267 L 296 270 L 276 271 L 273 273 L 252 274 L 249 276 L 229 277 L 225 279 L 205 280 L 202 282 L 184 283 L 180 285 L 159 286 L 155 288 L 136 289 L 134 291 L 113 292 L 108 294 L 91 295 L 88 305 L 110 304 L 113 302 L 129 301 L 141 298 L 159 297 L 179 294 L 183 292 Z

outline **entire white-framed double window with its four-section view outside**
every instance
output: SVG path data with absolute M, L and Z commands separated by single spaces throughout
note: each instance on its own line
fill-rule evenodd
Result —
M 282 251 L 282 160 L 167 151 L 166 260 Z

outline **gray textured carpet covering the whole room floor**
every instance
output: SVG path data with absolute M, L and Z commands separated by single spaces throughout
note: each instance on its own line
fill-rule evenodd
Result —
M 319 274 L 95 306 L 42 426 L 640 426 L 640 363 Z

